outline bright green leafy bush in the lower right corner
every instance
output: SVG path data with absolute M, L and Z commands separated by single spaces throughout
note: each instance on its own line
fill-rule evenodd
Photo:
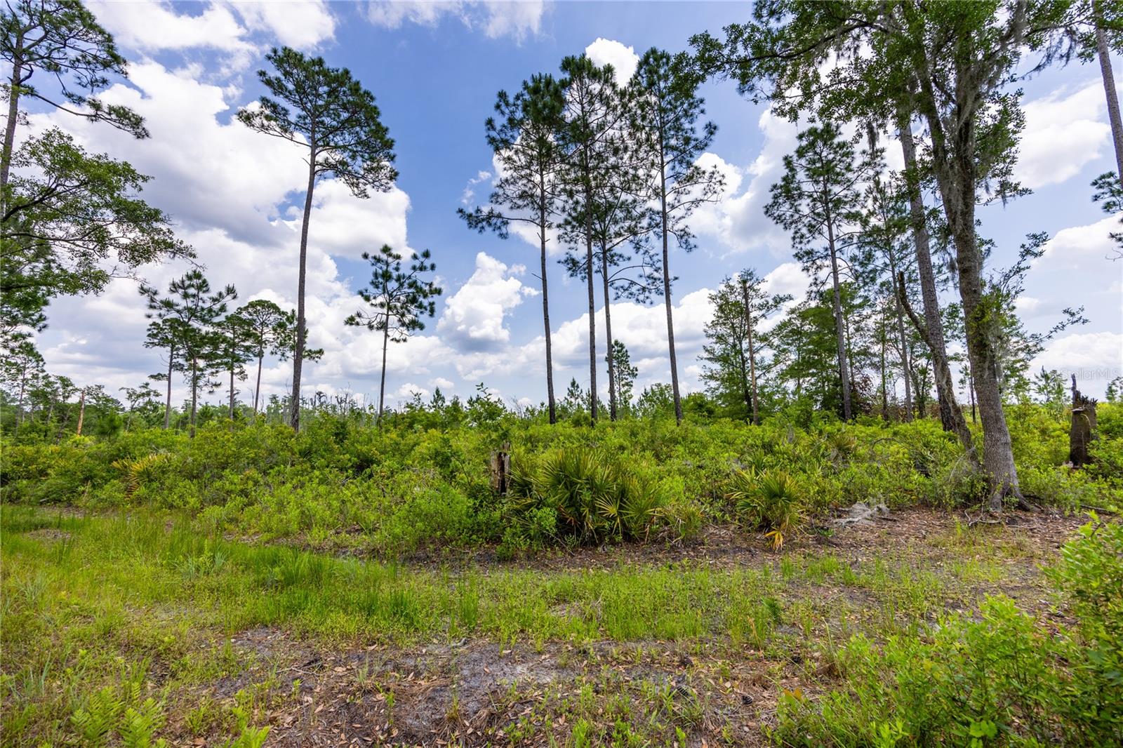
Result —
M 1094 517 L 1095 519 L 1095 517 Z M 1078 621 L 1056 636 L 1005 598 L 919 636 L 858 635 L 821 697 L 785 693 L 792 746 L 1119 745 L 1123 740 L 1123 526 L 1094 522 L 1050 571 Z

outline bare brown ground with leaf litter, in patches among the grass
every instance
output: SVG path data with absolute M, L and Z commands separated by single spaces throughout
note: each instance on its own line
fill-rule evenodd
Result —
M 1062 624 L 1039 565 L 1083 521 L 1012 512 L 999 527 L 915 508 L 831 535 L 811 533 L 785 555 L 831 554 L 856 569 L 892 557 L 935 574 L 965 558 L 997 563 L 1001 573 L 952 590 L 946 609 L 969 608 L 983 594 L 1001 592 Z M 757 539 L 721 528 L 694 545 L 578 550 L 530 565 L 557 572 L 687 559 L 718 568 L 779 565 Z M 827 582 L 796 581 L 784 596 L 810 599 L 823 611 L 876 604 L 868 590 Z M 565 745 L 578 718 L 608 726 L 608 735 L 614 720 L 628 719 L 663 735 L 673 736 L 678 727 L 690 745 L 756 746 L 766 742 L 761 726 L 773 719 L 782 690 L 813 694 L 836 675 L 814 632 L 807 636 L 785 624 L 778 633 L 791 646 L 767 651 L 719 640 L 551 641 L 535 647 L 474 639 L 409 648 L 363 642 L 326 648 L 283 630 L 258 628 L 229 641 L 248 666 L 198 696 L 226 702 L 239 691 L 245 699 L 255 684 L 268 684 L 254 709 L 255 723 L 271 728 L 272 746 L 545 746 L 551 739 Z M 186 735 L 184 724 L 174 727 Z M 185 742 L 220 745 L 206 737 Z

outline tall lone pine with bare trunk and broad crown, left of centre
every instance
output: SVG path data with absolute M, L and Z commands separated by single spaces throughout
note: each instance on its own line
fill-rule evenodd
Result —
M 308 57 L 282 47 L 265 56 L 275 74 L 257 76 L 271 97 L 262 97 L 238 112 L 238 119 L 258 133 L 287 140 L 308 152 L 308 185 L 300 228 L 296 281 L 296 341 L 292 356 L 292 428 L 300 430 L 300 374 L 308 336 L 304 284 L 308 275 L 308 228 L 312 193 L 319 179 L 335 176 L 356 198 L 393 186 L 394 142 L 382 124 L 374 94 L 346 67 L 328 67 L 322 57 Z

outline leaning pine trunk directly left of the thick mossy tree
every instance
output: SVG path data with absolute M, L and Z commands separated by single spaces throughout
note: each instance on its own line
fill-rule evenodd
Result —
M 912 118 L 902 111 L 897 128 L 905 168 L 916 172 L 916 145 L 912 137 Z M 932 354 L 933 378 L 937 401 L 940 405 L 940 423 L 944 431 L 952 431 L 968 454 L 975 454 L 975 443 L 964 419 L 964 412 L 956 402 L 956 384 L 948 365 L 948 349 L 943 339 L 943 320 L 940 319 L 940 299 L 935 290 L 935 271 L 932 270 L 932 250 L 929 246 L 928 224 L 924 219 L 924 201 L 915 180 L 907 181 L 909 219 L 912 224 L 913 244 L 916 247 L 916 270 L 920 275 L 920 292 L 924 305 L 924 329 L 920 330 L 929 352 Z

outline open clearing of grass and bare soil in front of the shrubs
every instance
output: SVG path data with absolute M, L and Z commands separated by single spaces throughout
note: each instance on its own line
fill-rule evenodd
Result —
M 1085 519 L 910 508 L 783 555 L 715 527 L 439 566 L 4 507 L 6 728 L 62 742 L 74 693 L 141 683 L 173 745 L 239 720 L 276 746 L 764 745 L 855 633 L 915 637 L 993 594 L 1066 626 L 1039 566 Z

